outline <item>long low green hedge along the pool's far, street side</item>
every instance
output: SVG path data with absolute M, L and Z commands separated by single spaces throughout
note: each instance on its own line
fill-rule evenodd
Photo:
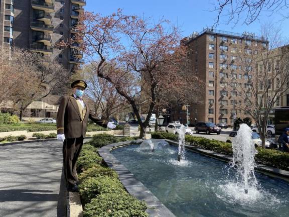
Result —
M 153 139 L 170 139 L 177 140 L 177 136 L 165 132 L 152 132 Z M 187 145 L 197 146 L 199 148 L 233 155 L 232 144 L 218 140 L 210 140 L 204 137 L 195 137 L 191 135 L 185 136 Z M 278 169 L 289 170 L 289 153 L 278 150 L 258 148 L 258 153 L 255 155 L 255 161 L 259 164 L 272 166 Z

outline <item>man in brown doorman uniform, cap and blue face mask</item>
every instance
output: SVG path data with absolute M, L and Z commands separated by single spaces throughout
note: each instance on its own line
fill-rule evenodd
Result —
M 87 84 L 83 80 L 72 82 L 72 95 L 63 96 L 57 112 L 57 140 L 63 142 L 63 167 L 66 188 L 78 192 L 76 161 L 85 138 L 88 118 L 96 124 L 114 129 L 116 126 L 104 120 L 99 120 L 82 99 Z

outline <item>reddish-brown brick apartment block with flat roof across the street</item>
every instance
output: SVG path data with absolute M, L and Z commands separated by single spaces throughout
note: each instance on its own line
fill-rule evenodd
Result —
M 228 87 L 234 85 L 234 79 L 243 85 L 247 83 L 238 52 L 250 55 L 265 49 L 268 42 L 253 34 L 207 28 L 184 38 L 182 43 L 190 48 L 193 72 L 205 82 L 205 88 L 200 90 L 202 101 L 190 106 L 190 124 L 209 121 L 232 125 L 234 114 L 235 118 L 248 117 L 238 108 L 244 101 Z M 172 112 L 172 118 L 186 123 L 186 112 L 177 109 Z

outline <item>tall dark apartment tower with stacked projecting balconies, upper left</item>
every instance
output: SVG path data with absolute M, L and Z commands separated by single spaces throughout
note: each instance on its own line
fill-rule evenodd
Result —
M 77 34 L 75 26 L 86 0 L 0 0 L 0 49 L 14 47 L 37 52 L 46 62 L 59 62 L 72 73 L 82 71 L 80 45 L 59 48 L 56 43 Z M 33 110 L 53 107 L 47 99 L 34 102 Z M 39 112 L 39 111 L 38 111 Z M 42 116 L 43 117 L 43 116 Z

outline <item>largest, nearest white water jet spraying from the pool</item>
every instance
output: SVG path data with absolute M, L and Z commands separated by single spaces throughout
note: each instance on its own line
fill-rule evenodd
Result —
M 248 188 L 255 188 L 257 180 L 254 174 L 255 154 L 257 153 L 252 142 L 252 131 L 246 124 L 241 124 L 238 134 L 232 143 L 233 161 L 232 166 L 237 167 L 237 172 L 241 180 L 237 185 L 244 188 L 248 193 Z

